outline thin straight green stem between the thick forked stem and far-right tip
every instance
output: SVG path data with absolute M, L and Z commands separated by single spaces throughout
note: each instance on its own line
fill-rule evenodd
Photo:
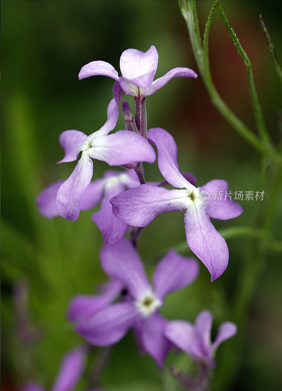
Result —
M 238 51 L 239 55 L 241 56 L 241 58 L 244 62 L 244 65 L 246 67 L 247 79 L 248 79 L 248 84 L 249 84 L 249 88 L 250 88 L 251 101 L 252 101 L 255 121 L 256 121 L 256 125 L 258 128 L 260 137 L 264 141 L 264 143 L 266 145 L 268 145 L 269 148 L 271 148 L 269 134 L 266 129 L 266 125 L 264 122 L 258 93 L 257 93 L 256 87 L 255 87 L 255 81 L 254 81 L 253 68 L 252 68 L 251 61 L 250 61 L 249 57 L 247 56 L 246 52 L 244 51 L 244 49 L 242 48 L 242 46 L 239 42 L 239 39 L 237 38 L 237 35 L 236 35 L 235 31 L 233 30 L 231 24 L 229 23 L 228 19 L 226 18 L 226 15 L 225 15 L 220 4 L 217 5 L 217 9 L 218 9 L 219 15 L 220 15 L 223 23 L 226 25 L 226 27 L 228 29 L 228 32 L 230 34 L 232 41 L 235 44 L 237 51 Z

